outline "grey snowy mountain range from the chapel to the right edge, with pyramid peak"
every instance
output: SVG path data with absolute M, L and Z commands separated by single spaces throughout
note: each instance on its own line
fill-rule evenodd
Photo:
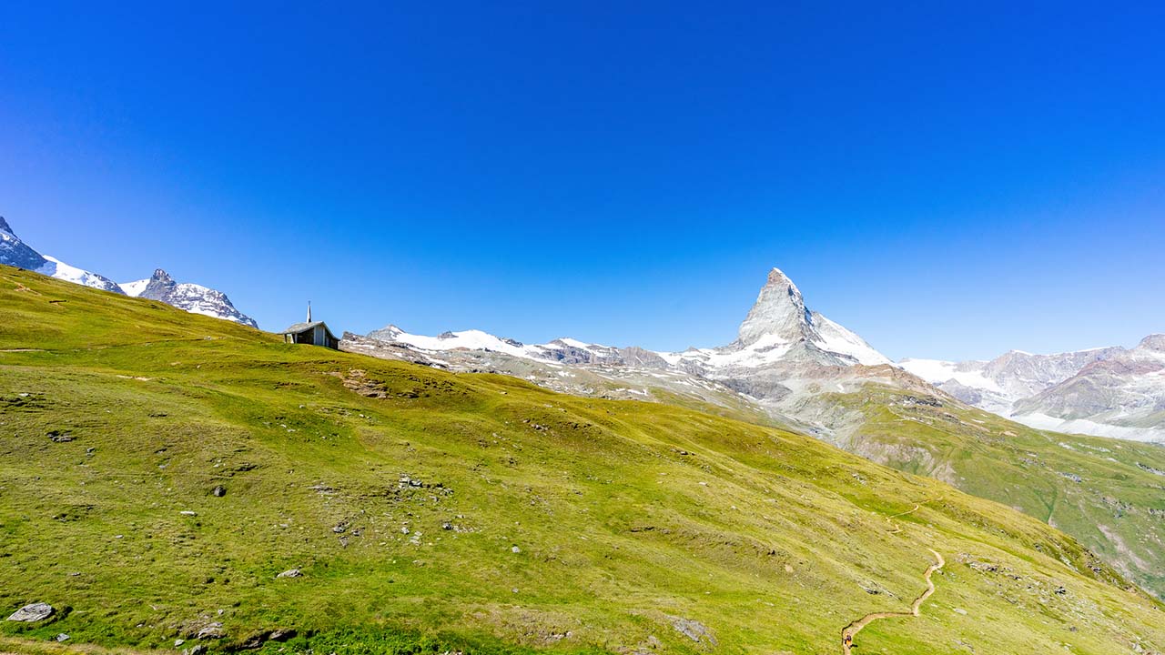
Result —
M 854 332 L 806 308 L 797 286 L 776 268 L 736 340 L 714 348 L 655 352 L 572 338 L 525 345 L 478 330 L 425 337 L 395 325 L 347 338 L 350 347 L 382 357 L 495 369 L 570 393 L 644 397 L 649 387 L 663 387 L 700 402 L 762 410 L 783 424 L 827 437 L 846 432 L 849 421 L 822 415 L 820 403 L 810 401 L 878 382 L 920 393 L 933 392 L 933 385 L 967 404 L 1035 428 L 1165 442 L 1163 343 L 1165 336 L 1157 334 L 1132 350 L 1012 351 L 991 361 L 892 364 Z M 587 369 L 548 371 L 534 362 Z

